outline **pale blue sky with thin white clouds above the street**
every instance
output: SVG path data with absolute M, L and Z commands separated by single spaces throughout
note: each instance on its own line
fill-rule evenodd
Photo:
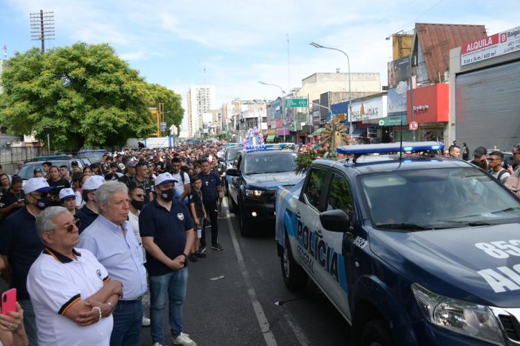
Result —
M 415 23 L 483 24 L 488 34 L 520 26 L 520 1 L 503 0 L 0 0 L 0 44 L 8 57 L 31 41 L 30 12 L 53 11 L 46 48 L 107 42 L 139 70 L 185 98 L 190 85 L 216 87 L 216 107 L 234 98 L 272 99 L 316 72 L 379 72 L 386 85 L 392 33 Z M 184 118 L 186 118 L 185 116 Z M 186 119 L 183 121 L 185 127 Z

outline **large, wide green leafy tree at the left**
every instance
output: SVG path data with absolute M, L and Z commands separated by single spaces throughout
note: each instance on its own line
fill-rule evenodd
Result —
M 53 148 L 107 148 L 154 130 L 144 78 L 108 44 L 16 53 L 1 82 L 0 124 L 38 139 L 51 126 Z

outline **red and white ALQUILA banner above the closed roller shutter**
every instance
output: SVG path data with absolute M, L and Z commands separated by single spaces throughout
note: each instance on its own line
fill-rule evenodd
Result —
M 460 47 L 460 64 L 473 64 L 515 51 L 520 51 L 520 26 L 463 44 Z

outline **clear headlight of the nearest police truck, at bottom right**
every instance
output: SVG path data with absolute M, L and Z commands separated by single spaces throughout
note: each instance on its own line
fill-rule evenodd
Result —
M 446 297 L 415 283 L 411 287 L 424 317 L 434 325 L 471 338 L 505 345 L 499 323 L 488 306 Z

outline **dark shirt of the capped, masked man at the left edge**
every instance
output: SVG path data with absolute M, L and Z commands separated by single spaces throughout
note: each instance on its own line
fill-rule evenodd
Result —
M 29 299 L 26 282 L 29 268 L 44 249 L 35 227 L 36 218 L 21 208 L 0 227 L 0 254 L 7 255 L 12 268 L 11 287 L 19 300 Z

